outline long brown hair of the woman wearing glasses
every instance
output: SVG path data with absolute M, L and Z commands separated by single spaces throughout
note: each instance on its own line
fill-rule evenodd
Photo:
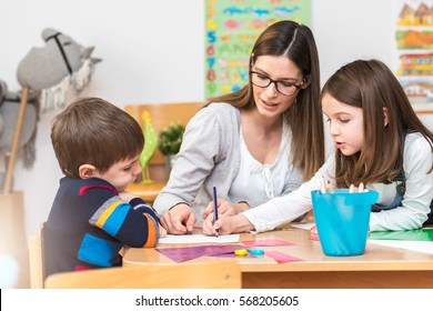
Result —
M 261 56 L 286 57 L 310 83 L 308 88 L 299 91 L 295 102 L 284 113 L 293 138 L 291 161 L 303 169 L 303 178 L 309 180 L 324 161 L 320 68 L 313 33 L 306 26 L 294 21 L 275 22 L 255 41 L 250 56 L 250 71 Z M 226 102 L 240 109 L 253 109 L 255 102 L 251 80 L 239 91 L 218 97 L 211 102 Z

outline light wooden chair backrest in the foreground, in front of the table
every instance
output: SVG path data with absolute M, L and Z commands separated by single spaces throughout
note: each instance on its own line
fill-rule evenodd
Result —
M 149 263 L 49 275 L 46 289 L 240 289 L 235 261 Z

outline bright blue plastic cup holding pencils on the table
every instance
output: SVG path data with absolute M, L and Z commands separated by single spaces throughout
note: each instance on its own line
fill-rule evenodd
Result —
M 369 190 L 349 193 L 336 189 L 334 193 L 311 192 L 315 225 L 323 253 L 326 255 L 359 255 L 365 251 L 369 235 L 371 205 L 379 193 Z

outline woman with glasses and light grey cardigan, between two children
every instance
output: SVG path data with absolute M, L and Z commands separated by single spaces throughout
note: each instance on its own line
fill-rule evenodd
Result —
M 258 38 L 249 83 L 191 119 L 154 208 L 169 233 L 184 234 L 212 211 L 213 187 L 220 214 L 236 214 L 293 191 L 323 161 L 315 41 L 306 26 L 280 21 Z

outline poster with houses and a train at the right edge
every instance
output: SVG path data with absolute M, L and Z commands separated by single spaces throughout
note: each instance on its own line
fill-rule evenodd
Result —
M 433 113 L 433 0 L 400 0 L 396 76 L 417 113 Z

